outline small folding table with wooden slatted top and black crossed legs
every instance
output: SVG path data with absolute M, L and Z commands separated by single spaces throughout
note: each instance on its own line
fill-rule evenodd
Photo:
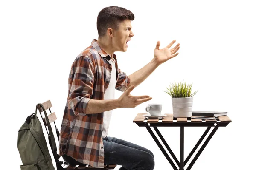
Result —
M 186 170 L 190 170 L 191 167 L 195 164 L 195 161 L 198 159 L 214 133 L 218 130 L 219 127 L 225 127 L 227 126 L 231 120 L 228 116 L 219 116 L 218 119 L 215 120 L 201 120 L 201 119 L 193 119 L 191 118 L 174 118 L 173 114 L 166 114 L 167 116 L 163 117 L 163 119 L 147 119 L 143 115 L 147 113 L 138 113 L 135 119 L 133 120 L 134 123 L 136 123 L 140 127 L 146 127 L 148 132 L 151 134 L 154 141 L 157 143 L 160 150 L 163 152 L 166 159 L 169 161 L 169 163 L 172 165 L 174 170 L 178 170 L 172 159 L 167 154 L 166 150 L 163 148 L 162 144 L 159 142 L 157 137 L 154 135 L 153 131 L 150 127 L 153 127 L 154 130 L 157 132 L 157 135 L 162 140 L 163 144 L 166 146 L 167 150 L 171 154 L 172 158 L 175 160 L 176 164 L 180 168 L 179 170 L 184 170 L 184 166 L 189 161 L 191 156 L 195 153 L 195 150 L 198 148 L 198 146 L 201 144 L 201 142 L 204 140 L 205 136 L 207 136 L 207 133 L 211 129 L 211 127 L 214 127 L 212 132 L 207 137 L 204 144 L 201 146 L 201 148 L 198 150 L 198 153 L 195 155 L 194 159 L 189 164 L 188 168 Z M 157 127 L 180 127 L 180 162 L 172 152 L 169 145 L 166 143 L 165 139 L 161 135 L 160 131 L 157 129 Z M 197 144 L 195 144 L 195 147 L 192 149 L 192 151 L 189 153 L 189 156 L 184 161 L 184 127 L 207 127 L 204 134 L 201 136 Z

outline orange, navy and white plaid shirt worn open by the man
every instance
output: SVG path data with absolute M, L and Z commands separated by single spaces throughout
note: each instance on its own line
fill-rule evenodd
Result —
M 104 167 L 102 141 L 103 112 L 86 114 L 90 99 L 103 100 L 108 88 L 112 65 L 110 56 L 93 40 L 73 62 L 68 79 L 68 97 L 61 123 L 60 156 L 67 154 L 92 167 Z M 116 61 L 116 55 L 113 54 Z M 125 91 L 128 76 L 116 65 L 116 89 Z

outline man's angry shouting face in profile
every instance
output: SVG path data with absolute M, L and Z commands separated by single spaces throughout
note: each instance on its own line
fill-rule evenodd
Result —
M 114 51 L 127 51 L 127 42 L 134 36 L 131 28 L 131 20 L 124 20 L 119 23 L 119 29 L 114 31 L 113 36 Z

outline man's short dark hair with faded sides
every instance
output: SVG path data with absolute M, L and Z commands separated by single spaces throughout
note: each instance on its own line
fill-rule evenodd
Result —
M 134 14 L 130 10 L 118 6 L 103 8 L 97 17 L 99 38 L 105 36 L 108 28 L 117 30 L 119 28 L 119 23 L 126 19 L 131 21 L 134 20 Z

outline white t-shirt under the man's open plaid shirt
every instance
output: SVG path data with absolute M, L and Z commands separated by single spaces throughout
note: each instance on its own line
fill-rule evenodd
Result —
M 104 100 L 111 100 L 115 98 L 115 89 L 116 89 L 116 65 L 115 61 L 112 59 L 109 60 L 109 62 L 112 65 L 112 71 L 111 71 L 111 77 L 110 77 L 110 82 L 108 85 L 107 90 L 105 91 L 104 94 Z M 108 127 L 112 115 L 112 111 L 105 111 L 103 113 L 103 129 L 102 129 L 102 138 L 105 138 L 108 135 Z

